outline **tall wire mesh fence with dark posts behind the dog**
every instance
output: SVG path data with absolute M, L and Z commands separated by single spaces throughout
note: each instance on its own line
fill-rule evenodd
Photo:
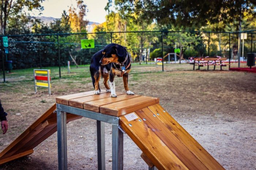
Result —
M 247 39 L 239 38 L 242 33 L 246 33 Z M 109 43 L 127 47 L 132 57 L 132 74 L 192 70 L 192 66 L 185 64 L 186 60 L 178 64 L 181 53 L 177 53 L 177 61 L 174 61 L 173 53 L 178 48 L 183 52 L 184 59 L 221 56 L 227 58 L 228 62 L 238 62 L 237 65 L 240 66 L 240 62 L 245 62 L 247 53 L 256 52 L 255 34 L 255 30 L 251 30 L 0 35 L 0 82 L 31 81 L 34 79 L 33 69 L 50 69 L 53 79 L 90 77 L 89 65 L 92 55 Z M 95 47 L 81 49 L 81 39 L 94 39 Z M 170 55 L 166 55 L 168 53 Z M 156 58 L 162 63 L 157 64 Z M 228 70 L 228 67 L 225 69 Z

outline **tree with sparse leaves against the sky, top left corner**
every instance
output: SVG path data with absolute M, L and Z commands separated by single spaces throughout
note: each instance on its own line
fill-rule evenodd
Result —
M 0 31 L 1 34 L 6 34 L 7 23 L 10 18 L 16 18 L 22 15 L 23 8 L 26 7 L 29 11 L 32 9 L 43 10 L 41 2 L 44 0 L 1 0 L 1 15 L 0 15 Z M 24 13 L 24 12 L 23 12 Z

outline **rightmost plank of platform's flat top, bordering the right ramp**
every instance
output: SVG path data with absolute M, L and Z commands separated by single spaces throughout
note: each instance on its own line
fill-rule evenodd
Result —
M 125 101 L 103 105 L 99 108 L 99 110 L 100 113 L 119 117 L 121 115 L 125 115 L 127 113 L 131 113 L 138 109 L 142 109 L 158 103 L 159 98 L 157 97 L 140 96 Z

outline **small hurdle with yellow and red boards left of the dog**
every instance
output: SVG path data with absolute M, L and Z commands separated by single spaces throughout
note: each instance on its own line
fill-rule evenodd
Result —
M 46 74 L 47 76 L 38 76 L 38 74 Z M 45 82 L 37 82 L 37 81 L 47 81 Z M 50 70 L 46 69 L 34 69 L 34 82 L 35 82 L 35 93 L 37 93 L 37 87 L 46 87 L 48 88 L 48 93 L 51 94 L 52 84 L 50 83 Z

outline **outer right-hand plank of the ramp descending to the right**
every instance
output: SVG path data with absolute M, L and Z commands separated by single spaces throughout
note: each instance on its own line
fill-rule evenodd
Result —
M 224 169 L 161 105 L 148 108 L 208 169 Z

